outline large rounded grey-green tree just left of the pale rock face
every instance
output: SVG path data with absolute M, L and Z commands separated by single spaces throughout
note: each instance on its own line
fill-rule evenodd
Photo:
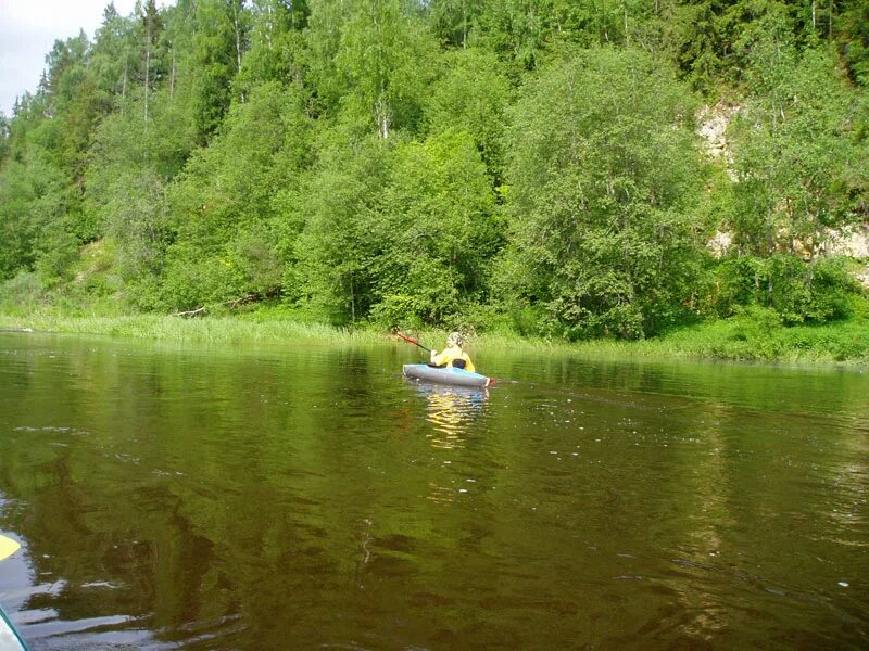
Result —
M 608 48 L 549 67 L 518 102 L 508 292 L 542 305 L 551 331 L 635 337 L 690 315 L 704 255 L 693 115 L 663 62 Z

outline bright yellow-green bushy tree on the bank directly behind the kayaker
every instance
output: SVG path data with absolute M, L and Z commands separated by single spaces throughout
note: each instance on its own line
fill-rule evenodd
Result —
M 368 213 L 379 243 L 371 314 L 389 326 L 453 321 L 487 299 L 502 244 L 486 166 L 459 130 L 402 143 L 392 159 L 382 206 Z

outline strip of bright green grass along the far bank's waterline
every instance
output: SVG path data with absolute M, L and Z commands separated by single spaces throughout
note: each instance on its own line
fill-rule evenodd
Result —
M 400 343 L 390 331 L 374 324 L 340 328 L 292 317 L 248 312 L 196 319 L 175 316 L 61 316 L 0 314 L 0 331 L 101 334 L 152 341 L 263 345 L 289 341 L 342 345 Z M 446 332 L 414 331 L 424 343 L 437 343 Z M 858 316 L 828 326 L 784 327 L 774 314 L 754 310 L 730 319 L 679 328 L 638 341 L 527 337 L 515 332 L 470 336 L 471 348 L 487 350 L 552 350 L 583 357 L 615 356 L 647 359 L 760 361 L 846 367 L 869 366 L 869 319 Z

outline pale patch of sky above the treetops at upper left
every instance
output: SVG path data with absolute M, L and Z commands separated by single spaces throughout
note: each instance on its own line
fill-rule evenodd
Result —
M 92 41 L 110 0 L 0 0 L 0 111 L 12 116 L 15 97 L 36 91 L 46 55 L 55 40 L 78 36 Z M 136 0 L 114 0 L 122 16 Z M 158 2 L 158 7 L 164 4 Z

